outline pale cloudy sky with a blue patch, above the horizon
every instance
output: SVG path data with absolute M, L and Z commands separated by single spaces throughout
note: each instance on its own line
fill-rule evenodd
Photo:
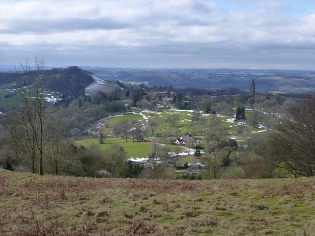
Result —
M 315 0 L 0 0 L 0 65 L 315 70 Z

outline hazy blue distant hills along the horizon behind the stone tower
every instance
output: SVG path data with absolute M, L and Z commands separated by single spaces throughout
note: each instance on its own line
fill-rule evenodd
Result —
M 108 80 L 139 82 L 149 86 L 176 88 L 239 88 L 248 90 L 252 78 L 257 91 L 315 91 L 314 71 L 254 69 L 104 69 L 92 70 L 95 76 Z

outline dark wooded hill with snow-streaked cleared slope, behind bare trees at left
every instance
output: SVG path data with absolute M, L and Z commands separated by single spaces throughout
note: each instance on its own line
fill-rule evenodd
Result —
M 47 102 L 77 98 L 81 95 L 91 96 L 94 92 L 111 92 L 122 88 L 116 82 L 103 81 L 93 74 L 88 73 L 77 66 L 70 66 L 66 69 L 45 70 L 43 79 L 48 80 L 45 99 Z M 31 81 L 26 81 L 28 91 L 32 92 Z M 0 73 L 0 109 L 5 110 L 15 106 L 17 93 L 19 92 L 19 81 L 12 72 Z

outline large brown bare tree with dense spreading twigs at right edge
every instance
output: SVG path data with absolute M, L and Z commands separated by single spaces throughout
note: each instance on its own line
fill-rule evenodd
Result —
M 295 177 L 315 174 L 315 96 L 292 106 L 273 133 L 272 151 L 279 167 Z

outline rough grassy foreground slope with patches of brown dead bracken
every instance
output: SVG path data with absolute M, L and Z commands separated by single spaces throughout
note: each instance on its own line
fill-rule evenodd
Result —
M 315 235 L 315 179 L 142 180 L 0 169 L 1 235 Z

